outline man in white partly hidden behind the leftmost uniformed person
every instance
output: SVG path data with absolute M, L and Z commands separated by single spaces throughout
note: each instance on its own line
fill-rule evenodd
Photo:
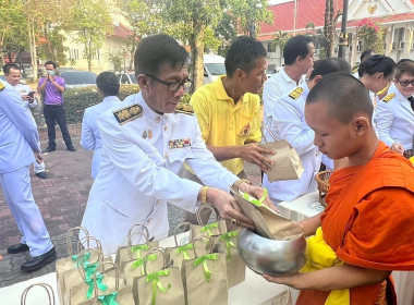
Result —
M 19 65 L 15 63 L 7 63 L 3 66 L 3 73 L 5 76 L 5 82 L 3 82 L 3 84 L 19 91 L 27 108 L 36 108 L 37 99 L 34 96 L 35 91 L 33 91 L 29 86 L 20 84 L 22 74 L 20 72 Z M 40 163 L 36 161 L 33 164 L 34 171 L 38 178 L 48 178 L 48 174 L 46 173 L 45 161 L 41 161 Z

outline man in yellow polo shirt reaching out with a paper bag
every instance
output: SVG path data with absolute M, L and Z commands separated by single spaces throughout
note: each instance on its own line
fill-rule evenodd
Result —
M 231 45 L 224 61 L 226 76 L 199 87 L 191 98 L 202 137 L 215 158 L 241 179 L 246 178 L 244 160 L 270 170 L 271 161 L 261 154 L 273 150 L 257 145 L 261 141 L 260 98 L 266 77 L 266 49 L 260 41 L 241 36 Z M 183 178 L 199 181 L 186 167 Z M 203 183 L 203 182 L 202 182 Z M 204 223 L 209 211 L 202 216 Z M 196 223 L 193 213 L 185 221 Z

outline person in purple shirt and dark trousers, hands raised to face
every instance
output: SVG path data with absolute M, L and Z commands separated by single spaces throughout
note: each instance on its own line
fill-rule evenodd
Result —
M 56 150 L 56 131 L 54 121 L 58 122 L 62 132 L 62 137 L 66 144 L 68 150 L 76 151 L 73 147 L 71 136 L 66 126 L 66 110 L 63 106 L 63 96 L 65 84 L 64 80 L 56 75 L 56 63 L 47 61 L 45 63 L 46 76 L 41 77 L 37 86 L 39 93 L 44 93 L 44 115 L 46 125 L 48 126 L 48 147 L 44 152 Z

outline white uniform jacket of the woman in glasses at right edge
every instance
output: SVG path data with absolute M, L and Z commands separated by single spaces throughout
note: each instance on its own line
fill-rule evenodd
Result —
M 414 111 L 394 84 L 388 89 L 388 95 L 378 102 L 375 122 L 379 139 L 389 147 L 398 143 L 404 146 L 404 150 L 413 149 Z

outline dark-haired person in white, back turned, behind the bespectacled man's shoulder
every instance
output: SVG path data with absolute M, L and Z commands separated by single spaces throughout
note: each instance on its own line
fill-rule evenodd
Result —
M 95 179 L 99 172 L 100 159 L 102 155 L 102 141 L 98 129 L 98 117 L 121 102 L 118 98 L 120 83 L 112 72 L 102 72 L 96 77 L 98 94 L 102 101 L 98 105 L 86 108 L 82 120 L 81 145 L 86 150 L 94 150 L 92 160 L 92 178 Z

